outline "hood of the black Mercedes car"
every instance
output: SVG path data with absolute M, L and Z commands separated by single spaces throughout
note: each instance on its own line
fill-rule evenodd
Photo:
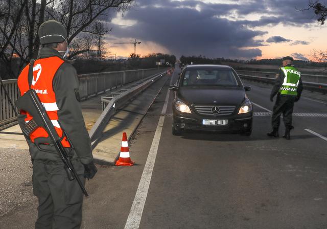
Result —
M 192 104 L 240 105 L 245 98 L 243 88 L 180 87 L 178 98 Z M 216 102 L 215 102 L 216 101 Z

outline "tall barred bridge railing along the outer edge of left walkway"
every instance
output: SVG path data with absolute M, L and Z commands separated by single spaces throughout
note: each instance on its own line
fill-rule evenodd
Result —
M 120 87 L 132 81 L 140 80 L 166 68 L 149 68 L 120 72 L 105 72 L 78 75 L 81 100 L 102 94 L 110 89 Z M 3 80 L 10 99 L 15 102 L 18 99 L 17 79 Z M 0 125 L 10 123 L 16 119 L 14 109 L 5 95 L 4 89 L 0 88 Z

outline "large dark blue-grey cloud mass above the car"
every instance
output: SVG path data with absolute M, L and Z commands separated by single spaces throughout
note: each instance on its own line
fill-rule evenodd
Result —
M 255 37 L 266 32 L 247 29 L 237 21 L 217 18 L 216 13 L 217 11 L 210 7 L 201 8 L 201 11 L 169 8 L 167 5 L 137 8 L 127 12 L 124 17 L 137 20 L 137 23 L 130 27 L 114 26 L 112 34 L 156 42 L 177 56 L 205 55 L 213 58 L 262 56 L 260 49 L 248 47 L 264 45 L 262 40 Z

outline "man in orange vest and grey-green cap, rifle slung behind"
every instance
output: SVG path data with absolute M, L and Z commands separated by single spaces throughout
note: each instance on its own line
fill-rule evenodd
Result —
M 91 144 L 79 104 L 79 85 L 75 68 L 64 59 L 68 53 L 67 32 L 56 20 L 45 21 L 38 30 L 41 49 L 33 66 L 27 65 L 18 77 L 21 95 L 32 88 L 44 105 L 59 136 L 63 130 L 74 146 L 72 163 L 83 184 L 85 177 L 97 172 Z M 29 80 L 29 68 L 33 79 Z M 32 77 L 31 77 L 32 78 Z M 20 125 L 33 117 L 29 113 L 18 116 Z M 37 229 L 80 228 L 83 192 L 76 179 L 69 180 L 64 165 L 48 133 L 39 127 L 30 135 L 29 151 L 33 162 L 33 193 L 38 198 Z M 35 142 L 42 143 L 39 149 Z M 64 138 L 64 147 L 71 147 Z

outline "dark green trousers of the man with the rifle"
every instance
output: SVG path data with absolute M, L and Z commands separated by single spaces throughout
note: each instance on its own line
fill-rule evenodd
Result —
M 84 166 L 72 161 L 85 184 Z M 36 229 L 77 229 L 82 222 L 83 192 L 76 179 L 69 180 L 62 162 L 34 161 L 33 193 L 38 198 Z

